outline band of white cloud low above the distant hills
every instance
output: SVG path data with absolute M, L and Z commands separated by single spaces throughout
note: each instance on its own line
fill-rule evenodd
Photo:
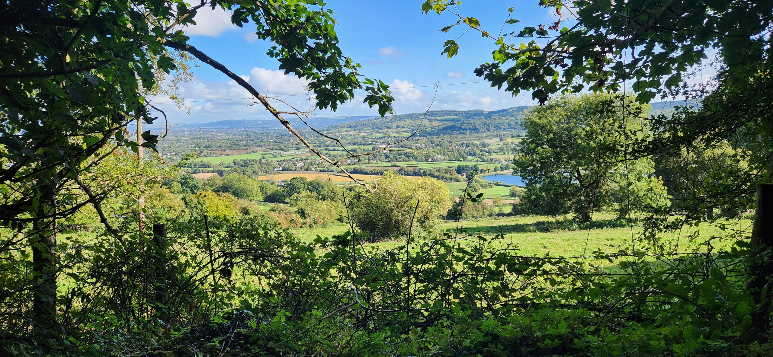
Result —
M 266 93 L 268 90 L 267 94 L 270 96 L 290 95 L 291 97 L 279 99 L 300 110 L 309 108 L 305 80 L 285 75 L 281 70 L 267 70 L 259 67 L 253 68 L 250 73 L 243 73 L 241 77 L 261 93 Z M 408 80 L 396 79 L 390 83 L 390 89 L 395 97 L 393 107 L 396 114 L 422 113 L 433 101 L 434 89 L 424 90 L 425 88 L 416 86 L 417 84 L 410 83 Z M 250 93 L 235 81 L 225 77 L 222 81 L 206 81 L 195 77 L 188 83 L 181 83 L 180 94 L 186 100 L 196 100 L 189 103 L 191 108 L 189 115 L 186 114 L 186 110 L 179 110 L 175 108 L 175 104 L 169 104 L 168 102 L 171 101 L 169 98 L 152 98 L 156 107 L 165 110 L 169 115 L 170 123 L 203 123 L 226 119 L 275 120 L 262 105 L 252 105 L 254 101 L 250 99 L 238 99 L 248 98 Z M 364 93 L 356 93 L 354 100 L 340 104 L 335 113 L 319 110 L 317 116 L 377 115 L 376 108 L 369 108 L 367 104 L 363 104 L 363 97 Z M 272 104 L 278 110 L 291 110 L 278 100 L 272 100 Z M 314 104 L 313 97 L 311 104 Z M 512 93 L 491 88 L 488 83 L 480 83 L 441 86 L 430 110 L 498 110 L 528 104 L 534 104 L 530 93 L 521 93 L 518 97 L 512 97 Z

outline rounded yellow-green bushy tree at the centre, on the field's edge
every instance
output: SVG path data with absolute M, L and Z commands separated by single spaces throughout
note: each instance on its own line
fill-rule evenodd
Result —
M 354 222 L 373 239 L 407 235 L 411 223 L 431 230 L 451 207 L 451 193 L 437 179 L 386 172 L 376 185 L 376 191 L 361 191 L 352 199 Z

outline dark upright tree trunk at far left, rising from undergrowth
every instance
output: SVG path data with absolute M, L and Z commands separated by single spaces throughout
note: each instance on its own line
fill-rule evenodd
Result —
M 46 184 L 40 188 L 40 206 L 32 223 L 32 321 L 39 335 L 56 333 L 56 209 L 54 189 Z

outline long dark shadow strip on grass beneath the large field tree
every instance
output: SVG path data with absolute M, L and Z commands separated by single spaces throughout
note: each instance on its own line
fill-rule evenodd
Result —
M 588 230 L 604 228 L 628 228 L 631 224 L 636 224 L 636 220 L 630 221 L 623 219 L 598 219 L 592 222 L 581 223 L 574 219 L 565 219 L 560 221 L 537 221 L 533 223 L 510 223 L 501 226 L 474 226 L 468 227 L 468 233 L 496 234 L 496 233 L 549 233 L 557 230 Z M 465 226 L 462 222 L 461 226 Z

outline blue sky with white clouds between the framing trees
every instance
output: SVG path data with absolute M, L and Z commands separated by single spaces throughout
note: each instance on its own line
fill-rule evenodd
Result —
M 455 19 L 450 14 L 424 15 L 422 1 L 373 2 L 366 0 L 331 0 L 329 8 L 338 14 L 336 31 L 344 53 L 364 67 L 363 73 L 389 83 L 396 98 L 397 114 L 424 111 L 432 101 L 434 83 L 441 83 L 433 110 L 497 110 L 516 105 L 533 104 L 530 94 L 513 97 L 488 83 L 472 71 L 491 58 L 494 45 L 477 32 L 461 36 L 459 30 L 440 32 Z M 505 31 L 519 31 L 523 26 L 536 26 L 556 21 L 553 10 L 539 8 L 536 0 L 493 1 L 468 0 L 458 8 L 461 15 L 475 16 L 482 28 L 499 32 L 506 19 L 507 8 L 515 7 L 513 17 L 521 22 L 506 25 Z M 230 14 L 222 10 L 204 10 L 196 15 L 197 26 L 186 29 L 190 43 L 209 53 L 234 73 L 244 76 L 261 92 L 281 97 L 301 109 L 308 109 L 308 93 L 304 82 L 278 71 L 278 63 L 265 55 L 267 42 L 257 40 L 249 24 L 243 29 L 230 24 Z M 461 29 L 458 26 L 457 29 Z M 446 39 L 458 39 L 459 55 L 451 59 L 441 56 Z M 246 91 L 232 83 L 222 73 L 204 64 L 194 68 L 194 79 L 182 83 L 180 92 L 188 103 L 186 110 L 175 108 L 165 97 L 155 98 L 158 107 L 167 111 L 172 123 L 196 123 L 225 119 L 269 119 L 262 107 L 250 107 L 250 100 L 224 100 L 248 97 Z M 450 85 L 452 83 L 465 83 Z M 290 97 L 287 97 L 290 96 Z M 208 100 L 208 101 L 203 101 Z M 278 104 L 281 106 L 281 104 Z M 361 99 L 339 107 L 335 113 L 317 112 L 319 117 L 376 115 Z

